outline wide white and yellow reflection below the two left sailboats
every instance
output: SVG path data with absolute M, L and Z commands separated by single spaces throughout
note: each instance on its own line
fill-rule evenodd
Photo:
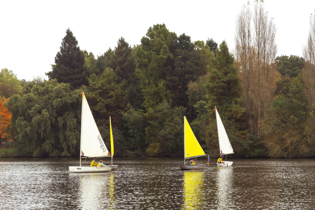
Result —
M 70 173 L 78 179 L 78 200 L 81 209 L 116 209 L 114 173 Z

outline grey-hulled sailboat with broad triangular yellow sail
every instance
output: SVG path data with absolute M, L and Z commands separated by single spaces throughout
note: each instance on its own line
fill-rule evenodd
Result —
M 178 165 L 181 170 L 203 170 L 207 168 L 207 165 L 188 165 L 186 159 L 206 155 L 198 143 L 195 134 L 187 122 L 186 116 L 184 116 L 184 164 Z M 188 161 L 188 160 L 187 160 Z

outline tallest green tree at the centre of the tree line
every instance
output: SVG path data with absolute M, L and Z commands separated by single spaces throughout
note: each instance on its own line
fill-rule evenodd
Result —
M 150 27 L 146 37 L 141 39 L 137 49 L 137 77 L 144 97 L 143 106 L 154 108 L 157 104 L 170 102 L 174 97 L 169 88 L 168 77 L 173 74 L 174 32 L 169 32 L 165 24 Z

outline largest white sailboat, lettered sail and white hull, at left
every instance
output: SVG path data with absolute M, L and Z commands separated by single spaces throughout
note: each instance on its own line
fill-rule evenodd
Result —
M 80 140 L 80 166 L 69 166 L 69 171 L 73 173 L 94 173 L 108 172 L 111 167 L 90 167 L 81 166 L 81 156 L 88 157 L 108 157 L 111 156 L 100 135 L 88 101 L 82 94 L 82 113 L 81 113 L 81 140 Z

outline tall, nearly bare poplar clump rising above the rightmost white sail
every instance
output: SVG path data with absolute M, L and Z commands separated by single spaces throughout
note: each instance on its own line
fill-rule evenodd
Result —
M 275 24 L 272 19 L 268 20 L 263 1 L 255 2 L 253 14 L 249 5 L 243 7 L 236 22 L 236 65 L 243 86 L 242 101 L 247 110 L 248 127 L 254 134 L 261 129 L 276 88 L 275 34 Z

